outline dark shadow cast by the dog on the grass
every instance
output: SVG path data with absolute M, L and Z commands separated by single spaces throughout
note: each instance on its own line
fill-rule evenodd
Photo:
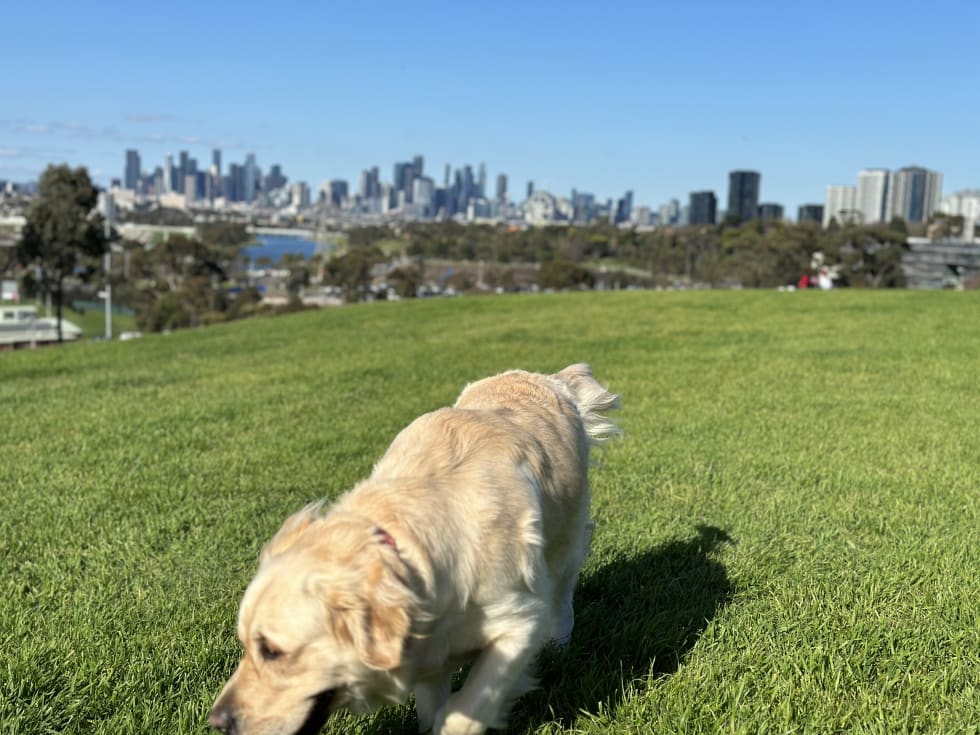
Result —
M 541 689 L 520 700 L 508 730 L 543 722 L 570 726 L 581 711 L 615 709 L 630 684 L 674 673 L 734 593 L 715 558 L 729 535 L 699 526 L 671 541 L 615 559 L 583 575 L 575 593 L 575 631 L 562 651 L 546 649 Z

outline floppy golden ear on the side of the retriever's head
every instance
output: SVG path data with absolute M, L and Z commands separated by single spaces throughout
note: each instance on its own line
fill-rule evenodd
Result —
M 414 596 L 381 558 L 383 552 L 374 554 L 366 569 L 346 580 L 319 578 L 314 588 L 338 640 L 372 669 L 397 669 L 412 625 Z

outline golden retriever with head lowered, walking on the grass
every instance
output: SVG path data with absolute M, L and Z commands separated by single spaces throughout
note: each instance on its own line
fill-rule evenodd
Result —
M 411 692 L 420 732 L 502 726 L 542 646 L 571 636 L 594 526 L 589 447 L 617 433 L 602 412 L 618 400 L 588 365 L 481 380 L 332 506 L 287 519 L 245 591 L 244 654 L 209 724 L 314 735 L 338 709 Z

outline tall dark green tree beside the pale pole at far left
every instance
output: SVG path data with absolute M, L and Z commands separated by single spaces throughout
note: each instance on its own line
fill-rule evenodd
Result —
M 18 257 L 37 267 L 41 289 L 54 297 L 59 342 L 65 279 L 85 259 L 106 250 L 102 217 L 92 212 L 97 199 L 98 190 L 84 167 L 48 166 L 21 231 Z

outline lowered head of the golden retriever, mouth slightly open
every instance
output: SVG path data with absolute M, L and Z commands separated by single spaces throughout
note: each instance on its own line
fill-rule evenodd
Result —
M 399 699 L 414 596 L 391 537 L 357 515 L 289 518 L 242 599 L 244 654 L 209 724 L 227 735 L 317 733 L 340 708 Z

